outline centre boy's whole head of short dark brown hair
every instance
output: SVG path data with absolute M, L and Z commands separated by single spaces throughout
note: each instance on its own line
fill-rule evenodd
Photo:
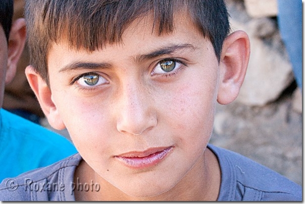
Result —
M 93 51 L 120 42 L 126 27 L 148 13 L 154 15 L 159 35 L 171 33 L 174 13 L 183 9 L 202 36 L 211 40 L 219 59 L 230 29 L 223 0 L 28 0 L 25 18 L 30 63 L 48 83 L 50 43 L 64 38 L 73 48 Z

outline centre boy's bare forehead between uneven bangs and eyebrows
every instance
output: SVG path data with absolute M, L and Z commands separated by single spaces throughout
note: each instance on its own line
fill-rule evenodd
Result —
M 66 31 L 68 32 L 68 31 Z M 81 32 L 81 31 L 80 31 Z M 94 35 L 94 34 L 93 34 Z M 96 34 L 98 35 L 98 34 Z M 155 25 L 154 22 L 154 14 L 149 13 L 145 17 L 137 18 L 132 21 L 122 34 L 121 40 L 109 42 L 109 40 L 104 40 L 101 37 L 100 39 L 100 46 L 95 48 L 94 50 L 90 50 L 86 48 L 86 45 L 78 45 L 75 46 L 75 43 L 70 42 L 71 39 L 68 39 L 67 34 L 63 34 L 62 38 L 57 42 L 50 43 L 51 45 L 56 44 L 65 44 L 71 50 L 81 50 L 81 51 L 96 51 L 96 50 L 103 50 L 106 47 L 112 47 L 114 45 L 118 46 L 126 46 L 127 44 L 139 44 L 140 47 L 144 45 L 141 44 L 142 40 L 152 40 L 155 44 L 164 43 L 170 38 L 175 38 L 177 36 L 191 38 L 196 36 L 198 39 L 204 39 L 204 35 L 199 31 L 197 26 L 193 23 L 190 16 L 187 12 L 176 12 L 174 14 L 174 21 L 173 21 L 173 30 L 172 31 L 163 31 L 160 33 L 160 28 Z M 178 39 L 177 39 L 178 40 Z M 75 37 L 74 41 L 82 42 Z M 50 46 L 52 47 L 52 46 Z

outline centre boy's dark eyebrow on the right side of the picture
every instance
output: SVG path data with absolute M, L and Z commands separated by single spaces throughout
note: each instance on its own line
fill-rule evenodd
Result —
M 139 62 L 142 60 L 147 59 L 154 59 L 162 55 L 166 54 L 173 54 L 175 52 L 181 51 L 181 50 L 194 50 L 196 47 L 194 47 L 191 44 L 180 44 L 180 45 L 169 45 L 166 47 L 159 48 L 156 51 L 150 52 L 148 54 L 141 54 L 135 57 L 135 61 Z

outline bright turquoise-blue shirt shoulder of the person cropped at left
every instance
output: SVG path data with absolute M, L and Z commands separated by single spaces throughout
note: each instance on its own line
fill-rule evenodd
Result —
M 65 137 L 0 109 L 0 181 L 77 153 Z M 15 162 L 12 162 L 15 161 Z

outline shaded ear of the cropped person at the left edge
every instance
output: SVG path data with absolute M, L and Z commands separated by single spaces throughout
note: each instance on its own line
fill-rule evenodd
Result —
M 17 63 L 24 49 L 25 38 L 25 20 L 20 18 L 13 22 L 10 32 L 6 84 L 10 83 L 16 74 Z

